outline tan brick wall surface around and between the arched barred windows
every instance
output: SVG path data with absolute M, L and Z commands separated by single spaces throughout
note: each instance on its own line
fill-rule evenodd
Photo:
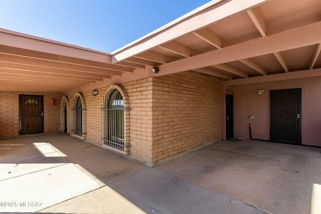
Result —
M 151 114 L 152 114 L 152 78 L 131 81 L 120 85 L 129 97 L 129 142 L 130 156 L 142 162 L 151 162 Z M 92 91 L 82 92 L 86 101 L 86 141 L 102 145 L 102 114 L 101 107 L 106 88 L 100 88 L 98 95 Z M 74 94 L 68 95 L 70 107 Z M 69 118 L 69 117 L 68 117 Z

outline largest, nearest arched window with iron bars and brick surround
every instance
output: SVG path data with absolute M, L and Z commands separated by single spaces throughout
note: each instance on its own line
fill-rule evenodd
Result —
M 112 85 L 104 96 L 102 140 L 110 149 L 129 154 L 129 126 L 125 125 L 129 120 L 129 108 L 126 108 L 128 101 L 124 99 L 123 90 L 120 90 L 120 87 Z

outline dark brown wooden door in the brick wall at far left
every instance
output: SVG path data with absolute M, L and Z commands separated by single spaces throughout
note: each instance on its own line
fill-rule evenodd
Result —
M 19 95 L 19 134 L 44 132 L 43 96 Z

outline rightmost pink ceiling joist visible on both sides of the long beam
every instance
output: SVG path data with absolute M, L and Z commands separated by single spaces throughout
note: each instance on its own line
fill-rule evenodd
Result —
M 252 22 L 254 23 L 257 30 L 260 32 L 262 37 L 267 36 L 267 26 L 263 14 L 259 7 L 250 9 L 246 11 Z M 281 64 L 285 72 L 289 72 L 286 62 L 280 52 L 273 53 L 277 61 Z

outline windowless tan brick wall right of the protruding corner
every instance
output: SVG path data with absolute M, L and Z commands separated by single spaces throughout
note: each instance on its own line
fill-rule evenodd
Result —
M 221 139 L 221 81 L 175 74 L 153 79 L 152 162 Z

